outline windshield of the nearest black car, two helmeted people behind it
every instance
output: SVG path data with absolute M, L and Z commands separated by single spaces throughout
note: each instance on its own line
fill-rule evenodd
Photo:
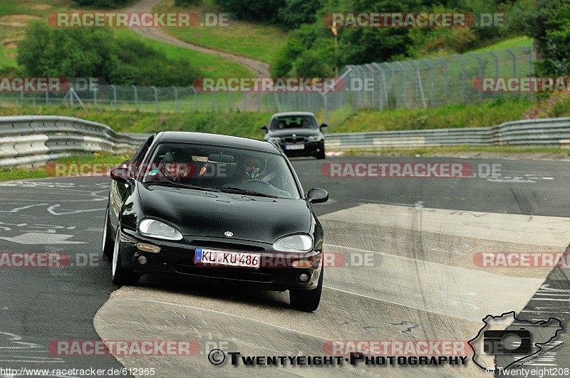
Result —
M 235 147 L 157 145 L 142 182 L 250 196 L 301 198 L 284 157 Z

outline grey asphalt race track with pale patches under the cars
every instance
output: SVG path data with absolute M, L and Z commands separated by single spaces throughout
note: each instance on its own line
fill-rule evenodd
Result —
M 325 355 L 328 340 L 470 340 L 483 317 L 508 311 L 533 321 L 556 317 L 565 327 L 550 344 L 565 345 L 525 367 L 569 367 L 569 268 L 481 268 L 473 256 L 566 251 L 570 162 L 382 158 L 451 161 L 499 163 L 502 176 L 328 178 L 321 174 L 323 161 L 294 159 L 305 191 L 330 193 L 328 203 L 314 206 L 325 251 L 355 262 L 326 268 L 321 305 L 310 314 L 290 310 L 286 293 L 251 288 L 154 276 L 117 288 L 110 263 L 99 258 L 109 179 L 0 183 L 0 252 L 61 252 L 72 263 L 0 268 L 0 368 L 154 367 L 155 377 L 487 377 L 470 357 L 465 366 L 233 367 L 229 361 L 213 366 L 207 355 L 213 347 L 244 356 Z M 372 263 L 358 266 L 366 256 Z M 48 352 L 56 340 L 195 340 L 199 352 L 69 357 Z M 491 355 L 480 357 L 494 366 Z

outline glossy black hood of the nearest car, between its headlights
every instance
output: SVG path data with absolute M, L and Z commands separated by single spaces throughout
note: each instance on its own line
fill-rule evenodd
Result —
M 309 233 L 311 210 L 303 199 L 273 199 L 139 184 L 145 217 L 162 219 L 189 236 L 273 243 L 290 233 Z

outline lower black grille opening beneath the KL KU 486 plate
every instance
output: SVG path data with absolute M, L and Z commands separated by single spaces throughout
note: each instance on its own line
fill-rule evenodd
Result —
M 248 282 L 271 283 L 273 274 L 253 271 L 247 268 L 198 268 L 194 260 L 180 260 L 175 270 L 182 274 L 198 275 L 200 277 L 227 278 Z

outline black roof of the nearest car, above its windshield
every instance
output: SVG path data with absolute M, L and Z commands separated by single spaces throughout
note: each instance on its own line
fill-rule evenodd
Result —
M 159 143 L 197 143 L 200 145 L 246 148 L 280 154 L 279 150 L 269 142 L 233 137 L 231 135 L 210 134 L 208 132 L 162 131 L 158 133 L 156 140 Z

